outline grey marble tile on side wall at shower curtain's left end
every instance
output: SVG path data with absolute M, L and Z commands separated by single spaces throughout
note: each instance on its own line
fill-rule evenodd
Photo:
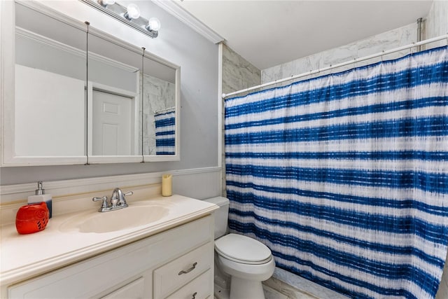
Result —
M 234 50 L 223 45 L 223 93 L 234 92 L 244 88 L 259 85 L 261 82 L 261 71 L 250 62 L 241 57 Z M 224 120 L 224 101 L 223 120 Z M 224 124 L 223 124 L 224 125 Z M 223 127 L 223 190 L 225 192 L 225 148 L 224 148 L 224 127 Z

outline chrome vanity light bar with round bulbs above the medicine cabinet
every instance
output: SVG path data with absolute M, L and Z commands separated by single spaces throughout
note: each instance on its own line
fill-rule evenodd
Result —
M 109 15 L 123 24 L 126 24 L 141 33 L 144 33 L 155 39 L 159 35 L 160 20 L 150 18 L 149 20 L 141 17 L 139 6 L 129 4 L 122 6 L 116 0 L 80 0 L 85 4 L 96 8 L 98 11 Z

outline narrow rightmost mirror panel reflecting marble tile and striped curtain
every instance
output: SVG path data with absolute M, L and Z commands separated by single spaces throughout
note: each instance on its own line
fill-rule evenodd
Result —
M 176 69 L 144 57 L 144 155 L 175 155 Z

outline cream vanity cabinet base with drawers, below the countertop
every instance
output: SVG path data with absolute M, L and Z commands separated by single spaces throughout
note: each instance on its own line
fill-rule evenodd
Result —
M 213 281 L 206 216 L 9 286 L 8 298 L 213 298 Z

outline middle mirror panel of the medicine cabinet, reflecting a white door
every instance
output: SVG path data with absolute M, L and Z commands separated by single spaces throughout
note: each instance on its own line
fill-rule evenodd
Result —
M 88 33 L 87 156 L 95 162 L 141 162 L 143 50 Z

